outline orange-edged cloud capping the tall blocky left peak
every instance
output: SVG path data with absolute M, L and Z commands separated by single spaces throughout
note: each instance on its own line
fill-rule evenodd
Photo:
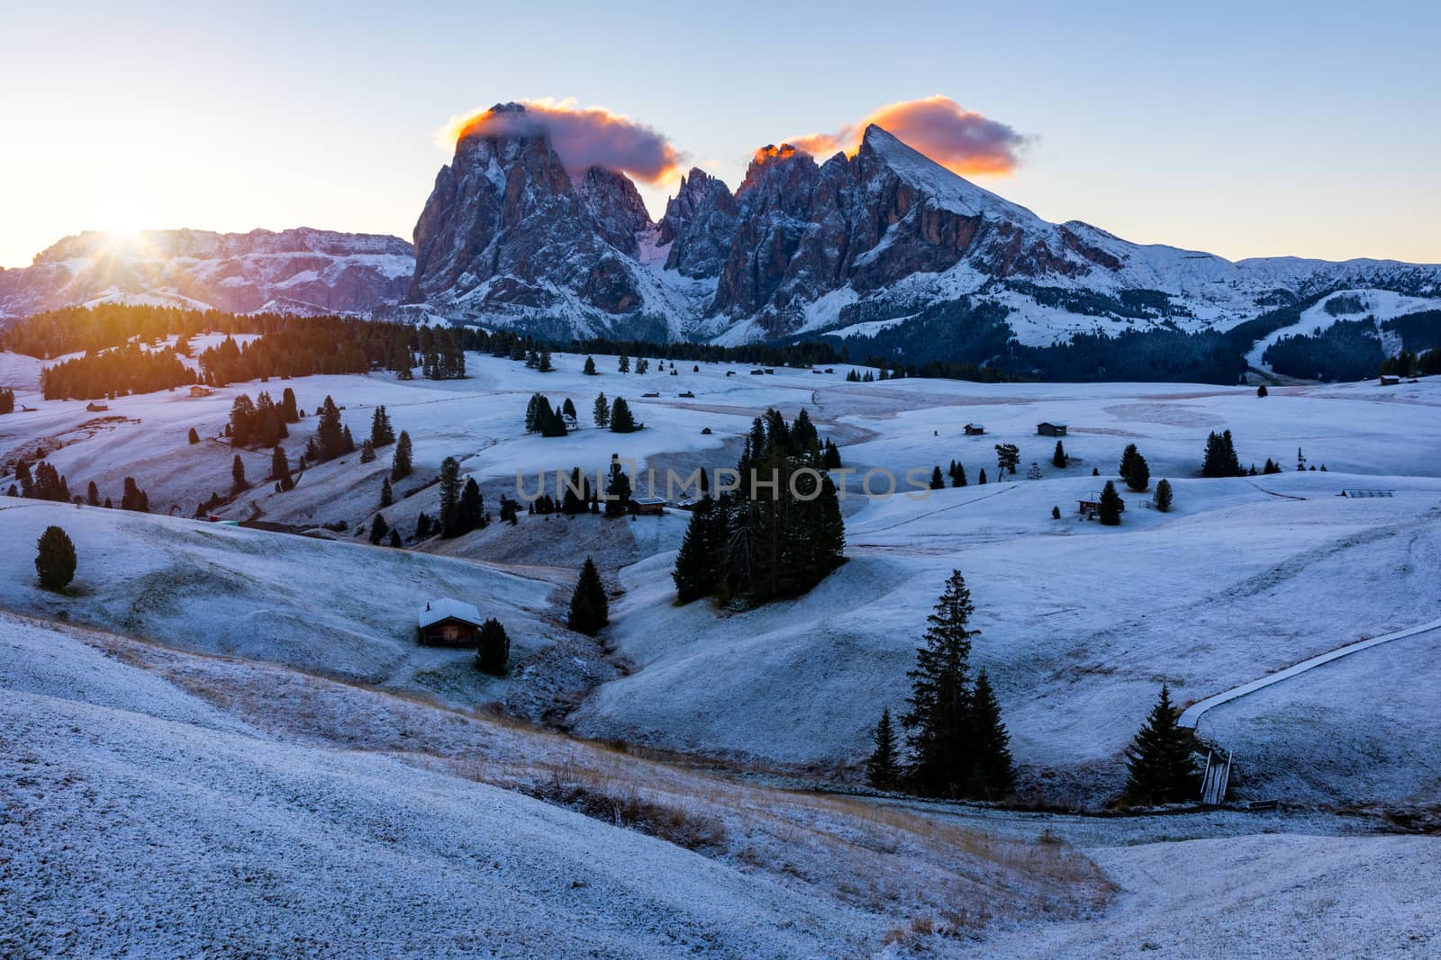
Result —
M 683 155 L 664 134 L 604 107 L 574 99 L 520 101 L 525 111 L 477 109 L 435 131 L 435 142 L 452 150 L 463 137 L 545 132 L 571 176 L 605 167 L 660 184 L 680 171 Z

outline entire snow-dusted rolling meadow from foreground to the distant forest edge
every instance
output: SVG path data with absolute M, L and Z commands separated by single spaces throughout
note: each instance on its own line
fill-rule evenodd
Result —
M 471 356 L 461 381 L 272 380 L 203 399 L 121 397 L 97 413 L 42 402 L 40 364 L 0 354 L 0 381 L 35 407 L 0 417 L 0 489 L 16 459 L 43 448 L 73 492 L 94 479 L 118 501 L 134 476 L 159 514 L 0 497 L 0 609 L 35 617 L 0 613 L 0 953 L 1434 951 L 1434 838 L 1375 836 L 1329 813 L 1088 820 L 816 797 L 487 717 L 499 702 L 584 737 L 853 780 L 880 708 L 904 707 L 925 615 L 960 569 L 981 630 L 973 659 L 997 688 L 1025 792 L 1104 803 L 1161 682 L 1193 702 L 1435 619 L 1441 380 L 1259 399 L 1192 384 L 862 384 L 844 381 L 846 366 L 620 376 L 612 357 L 585 377 L 581 361 L 556 356 L 558 371 L 540 374 Z M 594 474 L 611 453 L 661 472 L 728 466 L 754 416 L 804 407 L 857 471 L 849 561 L 797 600 L 718 612 L 673 603 L 680 511 L 522 515 L 454 541 L 372 547 L 354 534 L 379 507 L 388 449 L 372 465 L 353 455 L 311 468 L 287 494 L 261 481 L 267 452 L 242 452 L 256 482 L 218 512 L 313 537 L 186 520 L 229 489 L 220 433 L 233 397 L 278 399 L 287 386 L 307 412 L 333 396 L 357 442 L 376 404 L 411 433 L 415 474 L 382 511 L 406 534 L 421 511 L 435 514 L 445 456 L 496 512 L 517 471 L 535 489 L 537 471 Z M 527 436 L 537 390 L 571 397 L 585 429 Z M 630 400 L 646 429 L 591 427 L 601 390 Z M 1050 465 L 1055 439 L 1036 435 L 1042 420 L 1069 426 L 1063 469 Z M 986 436 L 963 436 L 974 422 Z M 199 445 L 186 442 L 192 426 Z M 293 456 L 314 426 L 291 427 Z M 1222 429 L 1242 463 L 1271 458 L 1287 472 L 1200 479 L 1206 435 Z M 1076 517 L 1130 442 L 1153 486 L 1172 481 L 1174 508 L 1123 488 L 1121 527 Z M 1019 445 L 1014 478 L 999 476 L 996 443 Z M 1297 448 L 1327 469 L 1295 472 Z M 904 495 L 906 471 L 951 459 L 970 486 Z M 1032 462 L 1038 481 L 1026 479 Z M 872 468 L 901 476 L 902 495 L 863 497 Z M 1337 495 L 1355 488 L 1395 495 Z M 320 528 L 340 521 L 344 531 Z M 33 544 L 49 524 L 79 554 L 63 594 L 35 583 Z M 599 643 L 563 628 L 588 554 L 614 597 Z M 435 596 L 504 622 L 517 664 L 507 679 L 476 674 L 468 652 L 415 646 L 415 610 Z M 1235 794 L 1434 807 L 1437 636 L 1206 714 L 1202 735 L 1235 751 Z M 582 816 L 586 796 L 669 826 Z M 1036 843 L 1043 830 L 1085 856 Z

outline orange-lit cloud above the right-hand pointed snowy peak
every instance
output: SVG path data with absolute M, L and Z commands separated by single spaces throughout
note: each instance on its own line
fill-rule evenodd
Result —
M 791 137 L 787 142 L 816 157 L 826 157 L 837 150 L 855 154 L 870 124 L 895 134 L 942 167 L 963 176 L 1013 173 L 1020 163 L 1020 150 L 1026 145 L 1026 137 L 1013 128 L 968 111 L 940 94 L 888 104 L 834 134 Z

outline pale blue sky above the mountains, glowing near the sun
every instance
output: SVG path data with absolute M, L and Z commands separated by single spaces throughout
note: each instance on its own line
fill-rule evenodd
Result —
M 89 227 L 408 237 L 432 132 L 496 101 L 628 114 L 735 187 L 762 144 L 931 94 L 1033 138 L 977 181 L 1052 220 L 1441 262 L 1441 4 L 1179 6 L 12 4 L 0 266 Z

